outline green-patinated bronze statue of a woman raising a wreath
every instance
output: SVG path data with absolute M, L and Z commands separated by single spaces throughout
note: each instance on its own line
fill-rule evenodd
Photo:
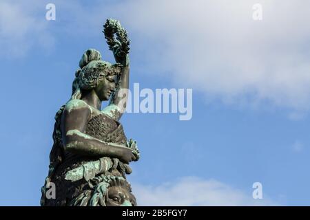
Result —
M 118 38 L 111 40 L 107 36 L 114 34 L 112 30 L 118 31 Z M 127 101 L 129 42 L 114 20 L 107 20 L 105 36 L 116 64 L 102 61 L 94 49 L 83 54 L 72 97 L 55 116 L 50 170 L 41 188 L 42 206 L 136 206 L 125 174 L 132 172 L 129 163 L 138 160 L 139 152 L 118 122 Z M 101 110 L 101 102 L 106 100 L 110 104 Z M 54 198 L 46 195 L 52 184 Z

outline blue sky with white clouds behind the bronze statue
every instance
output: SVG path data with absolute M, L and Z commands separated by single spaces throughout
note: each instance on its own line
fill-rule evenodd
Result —
M 31 3 L 30 3 L 31 2 Z M 45 5 L 56 5 L 56 20 Z M 262 21 L 252 19 L 261 3 Z M 192 88 L 192 120 L 127 113 L 140 205 L 310 205 L 310 59 L 304 1 L 0 1 L 1 206 L 38 206 L 54 114 L 101 33 L 131 39 L 130 86 Z M 259 181 L 263 199 L 252 198 Z

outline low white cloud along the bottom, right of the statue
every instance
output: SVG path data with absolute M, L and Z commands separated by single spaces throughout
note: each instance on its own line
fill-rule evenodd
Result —
M 214 179 L 183 177 L 160 186 L 132 184 L 139 206 L 277 206 L 263 194 L 253 199 L 242 190 Z M 251 187 L 251 186 L 250 186 Z

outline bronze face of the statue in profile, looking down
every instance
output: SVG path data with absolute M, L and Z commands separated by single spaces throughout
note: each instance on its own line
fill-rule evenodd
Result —
M 101 101 L 106 101 L 110 99 L 110 96 L 115 90 L 115 87 L 116 76 L 105 76 L 98 79 L 95 91 Z

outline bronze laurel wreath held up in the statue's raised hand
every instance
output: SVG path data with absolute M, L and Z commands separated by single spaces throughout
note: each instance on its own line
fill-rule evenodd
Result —
M 129 53 L 130 40 L 128 40 L 127 32 L 121 26 L 119 21 L 114 19 L 107 19 L 105 25 L 103 25 L 103 33 L 105 34 L 105 39 L 107 40 L 107 45 L 109 45 L 110 50 L 120 46 L 119 49 L 121 54 Z M 116 37 L 114 37 L 114 34 L 116 34 Z

